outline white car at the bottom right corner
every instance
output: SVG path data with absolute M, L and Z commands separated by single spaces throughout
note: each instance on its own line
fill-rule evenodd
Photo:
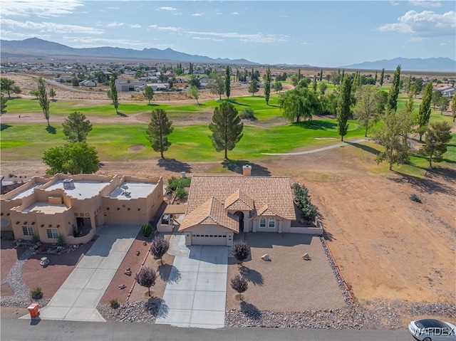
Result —
M 433 318 L 410 321 L 408 330 L 420 341 L 456 341 L 456 326 Z

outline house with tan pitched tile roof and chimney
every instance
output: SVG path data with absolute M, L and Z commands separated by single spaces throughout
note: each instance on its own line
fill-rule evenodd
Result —
M 192 177 L 179 228 L 187 245 L 230 246 L 239 231 L 297 232 L 290 179 L 251 177 L 250 170 L 244 166 L 242 177 Z

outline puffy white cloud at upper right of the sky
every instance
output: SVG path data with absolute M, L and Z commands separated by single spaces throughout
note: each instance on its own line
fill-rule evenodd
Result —
M 380 32 L 410 33 L 414 37 L 451 36 L 455 34 L 456 12 L 436 14 L 433 11 L 408 11 L 397 23 L 386 23 L 377 28 Z

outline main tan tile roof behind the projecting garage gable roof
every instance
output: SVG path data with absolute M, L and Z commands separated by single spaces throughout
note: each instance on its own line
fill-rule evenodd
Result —
M 252 206 L 253 202 L 254 209 L 249 209 L 252 211 L 251 216 L 257 215 L 257 211 L 267 205 L 277 216 L 296 220 L 290 179 L 287 177 L 194 175 L 190 184 L 186 218 L 212 196 L 224 206 L 229 206 L 229 209 L 237 209 L 237 205 Z

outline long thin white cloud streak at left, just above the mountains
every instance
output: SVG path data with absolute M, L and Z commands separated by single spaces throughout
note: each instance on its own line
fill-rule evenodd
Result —
M 53 32 L 53 33 L 85 33 L 85 34 L 101 34 L 104 31 L 99 28 L 91 28 L 88 26 L 68 25 L 65 23 L 36 23 L 33 21 L 15 21 L 10 19 L 0 19 L 1 26 L 9 28 L 24 28 L 30 31 L 38 32 Z

